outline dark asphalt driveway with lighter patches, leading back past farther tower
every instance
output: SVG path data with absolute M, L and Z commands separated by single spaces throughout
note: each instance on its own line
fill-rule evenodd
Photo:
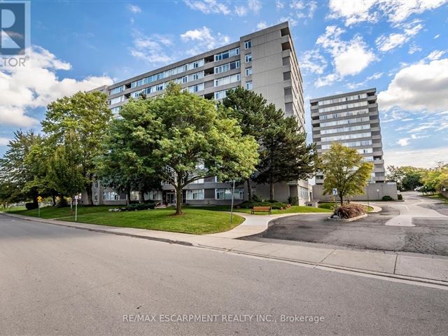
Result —
M 325 221 L 328 214 L 279 218 L 246 239 L 448 255 L 448 206 L 414 192 L 404 197 L 405 202 L 375 202 L 381 212 L 350 223 Z

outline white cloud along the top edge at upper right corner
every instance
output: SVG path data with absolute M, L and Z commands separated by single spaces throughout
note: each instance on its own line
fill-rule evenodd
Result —
M 330 0 L 328 18 L 345 20 L 350 26 L 358 22 L 377 22 L 386 17 L 391 22 L 402 22 L 409 15 L 432 10 L 447 0 Z

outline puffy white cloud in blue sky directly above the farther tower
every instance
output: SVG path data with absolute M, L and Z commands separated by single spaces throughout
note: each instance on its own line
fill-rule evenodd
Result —
M 329 85 L 344 76 L 353 76 L 363 71 L 371 62 L 377 59 L 360 35 L 354 36 L 350 41 L 342 41 L 340 36 L 344 29 L 328 26 L 325 34 L 317 38 L 316 44 L 321 45 L 326 52 L 332 55 L 332 64 L 335 73 L 325 78 L 319 78 L 316 86 Z

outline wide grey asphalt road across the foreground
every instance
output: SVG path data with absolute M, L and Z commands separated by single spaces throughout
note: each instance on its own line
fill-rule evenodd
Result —
M 1 335 L 446 335 L 447 315 L 448 290 L 0 214 Z

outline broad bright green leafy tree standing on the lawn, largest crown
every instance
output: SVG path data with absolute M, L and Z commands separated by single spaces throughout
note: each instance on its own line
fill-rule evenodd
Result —
M 162 97 L 130 102 L 120 111 L 127 156 L 173 186 L 176 214 L 182 214 L 182 189 L 189 183 L 211 176 L 247 179 L 254 171 L 258 144 L 228 113 L 172 83 Z

